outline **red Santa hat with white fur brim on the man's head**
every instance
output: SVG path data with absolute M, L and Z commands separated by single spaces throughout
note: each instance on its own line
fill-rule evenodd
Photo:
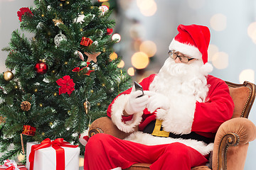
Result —
M 171 41 L 169 50 L 176 50 L 184 55 L 208 62 L 208 45 L 210 42 L 210 30 L 206 26 L 179 25 L 178 35 Z

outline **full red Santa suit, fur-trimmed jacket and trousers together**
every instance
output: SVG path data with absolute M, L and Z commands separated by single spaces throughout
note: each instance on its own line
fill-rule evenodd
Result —
M 155 77 L 156 74 L 152 74 L 143 79 L 140 84 L 144 91 L 150 89 L 150 84 Z M 143 132 L 149 123 L 156 120 L 157 111 L 149 113 L 145 109 L 143 113 L 135 113 L 125 117 L 122 112 L 124 111 L 127 95 L 132 89 L 119 94 L 107 109 L 107 115 L 112 118 L 113 123 L 117 125 L 119 130 L 132 132 L 135 126 L 139 125 L 139 132 L 132 133 L 125 140 L 119 140 L 116 137 L 105 134 L 91 137 L 85 148 L 94 148 L 94 150 L 87 149 L 87 152 L 85 152 L 85 169 L 90 169 L 92 162 L 99 160 L 99 158 L 96 159 L 99 155 L 93 156 L 97 153 L 100 153 L 100 163 L 95 162 L 93 169 L 112 169 L 118 166 L 126 169 L 138 162 L 152 164 L 151 169 L 190 169 L 193 166 L 205 165 L 207 159 L 203 155 L 206 156 L 213 150 L 213 143 L 205 142 L 205 140 L 200 141 L 200 137 L 197 137 L 202 136 L 209 139 L 209 141 L 213 140 L 215 132 L 221 123 L 232 117 L 234 108 L 233 100 L 230 97 L 225 81 L 208 75 L 207 82 L 209 91 L 206 101 L 202 103 L 196 102 L 194 110 L 188 112 L 188 114 L 193 113 L 192 116 L 188 114 L 174 116 L 173 120 L 171 120 L 173 123 L 170 123 L 169 127 L 167 127 L 170 129 L 169 132 L 181 135 L 178 138 L 156 137 Z M 179 122 L 185 123 L 176 125 Z M 191 134 L 191 132 L 196 133 L 196 138 L 193 137 L 195 136 L 194 134 L 188 137 L 182 136 Z M 192 137 L 192 139 L 189 137 Z M 90 147 L 90 145 L 95 145 L 95 147 Z M 166 147 L 170 148 L 168 149 L 169 152 L 166 152 Z M 105 150 L 104 154 L 102 149 Z M 86 153 L 90 154 L 87 155 Z M 164 155 L 163 153 L 168 154 L 168 156 L 161 157 L 161 155 Z M 183 157 L 183 162 L 181 161 L 181 154 L 185 156 Z M 88 162 L 90 162 L 90 165 Z

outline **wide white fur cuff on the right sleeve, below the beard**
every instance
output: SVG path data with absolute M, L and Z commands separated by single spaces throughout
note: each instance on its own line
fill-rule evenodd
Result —
M 156 118 L 163 120 L 162 127 L 167 132 L 174 134 L 190 133 L 196 109 L 195 97 L 179 94 L 178 96 L 169 96 L 169 98 L 169 110 L 159 109 L 156 112 Z

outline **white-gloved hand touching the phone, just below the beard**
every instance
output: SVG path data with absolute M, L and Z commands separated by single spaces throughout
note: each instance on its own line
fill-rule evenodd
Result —
M 156 111 L 157 108 L 162 108 L 164 110 L 169 109 L 170 102 L 167 96 L 154 91 L 144 91 L 144 94 L 149 96 L 149 102 L 146 104 L 146 108 L 150 113 Z

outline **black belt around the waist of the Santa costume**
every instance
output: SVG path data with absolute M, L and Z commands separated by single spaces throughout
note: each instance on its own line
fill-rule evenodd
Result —
M 155 124 L 156 124 L 156 120 L 151 121 L 151 123 L 146 125 L 146 128 L 144 128 L 143 132 L 152 134 L 152 132 L 154 130 L 154 127 L 155 127 Z M 162 130 L 162 128 L 161 128 L 161 130 Z M 213 142 L 213 139 L 208 138 L 208 137 L 204 137 L 202 135 L 198 135 L 196 132 L 191 132 L 191 133 L 186 134 L 186 135 L 176 135 L 172 132 L 169 132 L 169 137 L 175 138 L 175 139 L 181 138 L 181 139 L 185 139 L 185 140 L 188 140 L 188 139 L 198 140 L 198 141 L 206 142 L 206 144 L 209 144 L 210 142 Z

